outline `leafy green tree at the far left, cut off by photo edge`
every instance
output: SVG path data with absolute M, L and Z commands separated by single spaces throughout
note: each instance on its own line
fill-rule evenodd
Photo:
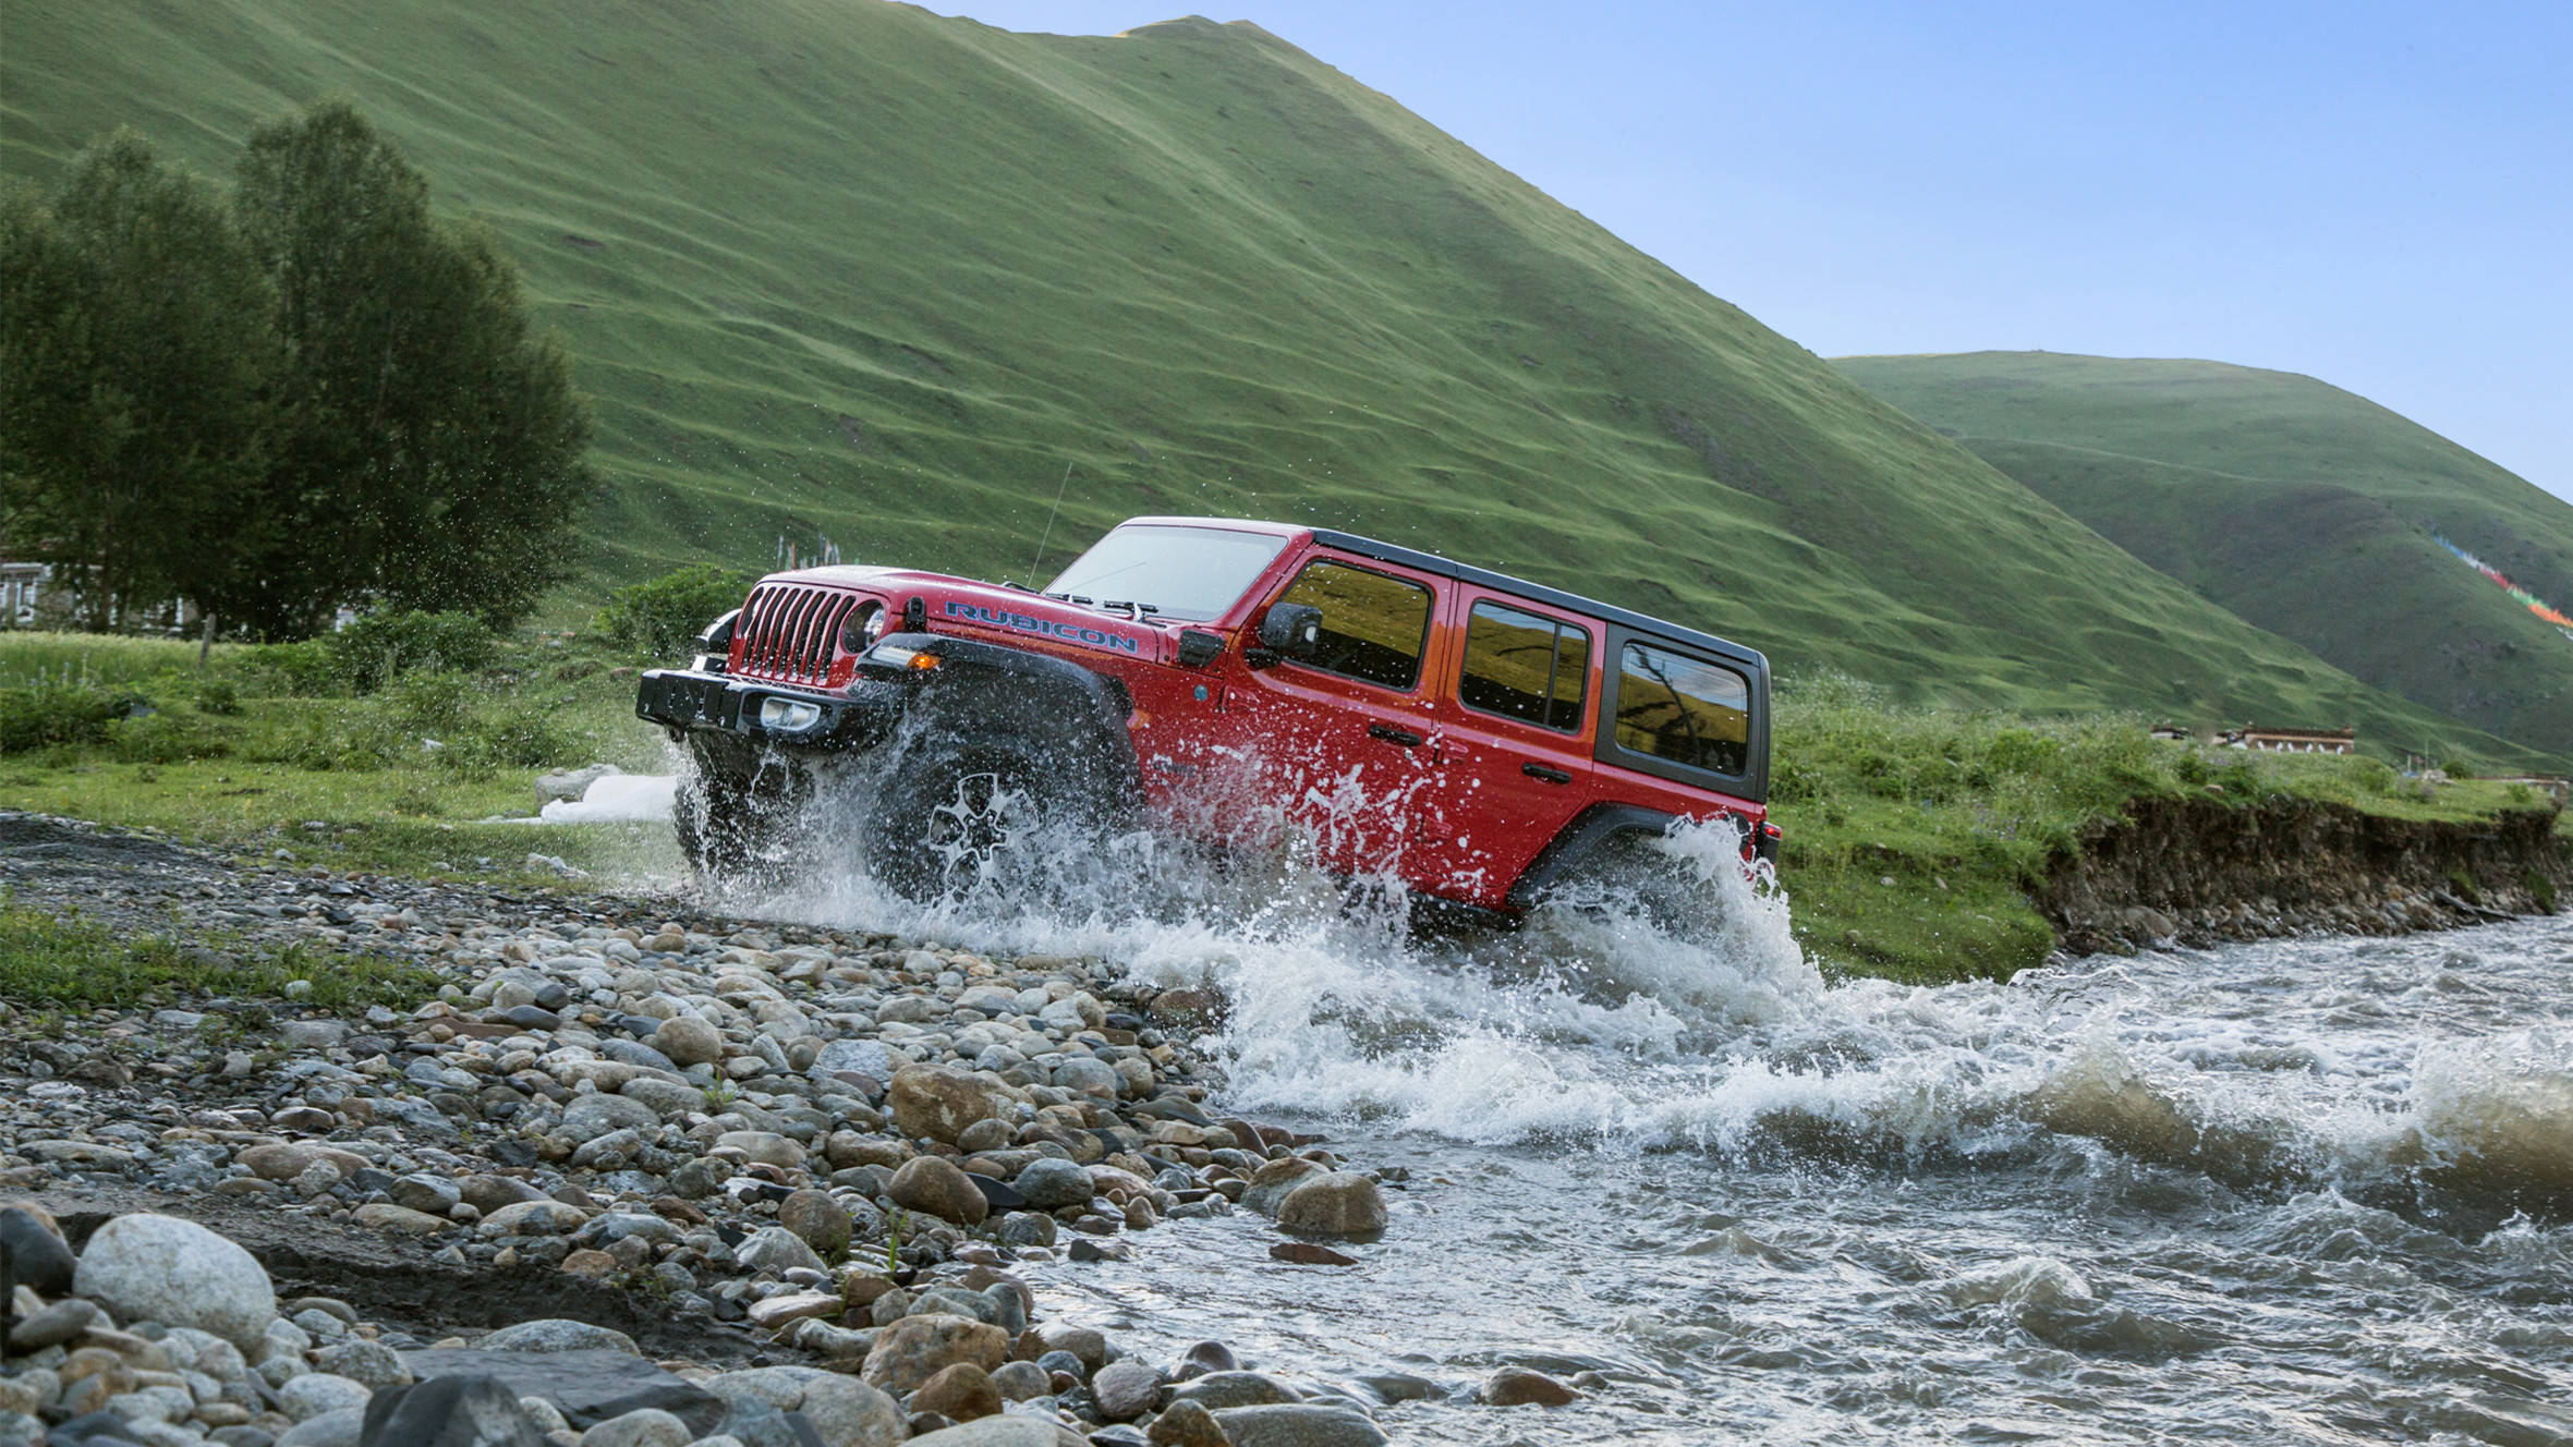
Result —
M 134 131 L 0 198 L 0 548 L 62 564 L 85 626 L 257 592 L 273 314 L 224 203 Z

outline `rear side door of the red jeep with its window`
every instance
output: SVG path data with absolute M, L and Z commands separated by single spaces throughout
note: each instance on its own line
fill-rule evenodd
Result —
M 1600 626 L 1461 584 L 1438 698 L 1438 778 L 1418 808 L 1420 883 L 1500 906 L 1593 796 Z

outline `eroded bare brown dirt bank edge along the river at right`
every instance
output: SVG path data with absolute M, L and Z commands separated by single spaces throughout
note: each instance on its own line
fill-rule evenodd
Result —
M 2555 811 L 2475 824 L 2341 803 L 2143 798 L 2058 852 L 2038 911 L 2071 953 L 2156 940 L 2408 935 L 2552 914 L 2573 888 Z

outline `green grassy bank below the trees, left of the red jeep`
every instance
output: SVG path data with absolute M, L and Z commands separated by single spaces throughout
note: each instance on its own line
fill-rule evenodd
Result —
M 597 639 L 499 641 L 471 672 L 355 693 L 316 644 L 0 633 L 0 806 L 167 829 L 337 870 L 566 883 L 674 875 L 661 824 L 491 821 L 545 767 L 666 772 L 633 669 Z M 139 705 L 139 708 L 136 708 Z

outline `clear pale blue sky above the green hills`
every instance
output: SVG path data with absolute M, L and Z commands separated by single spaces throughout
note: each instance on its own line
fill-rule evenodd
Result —
M 1114 33 L 1168 0 L 939 0 Z M 1822 355 L 2303 371 L 2573 499 L 2573 0 L 1209 13 Z

